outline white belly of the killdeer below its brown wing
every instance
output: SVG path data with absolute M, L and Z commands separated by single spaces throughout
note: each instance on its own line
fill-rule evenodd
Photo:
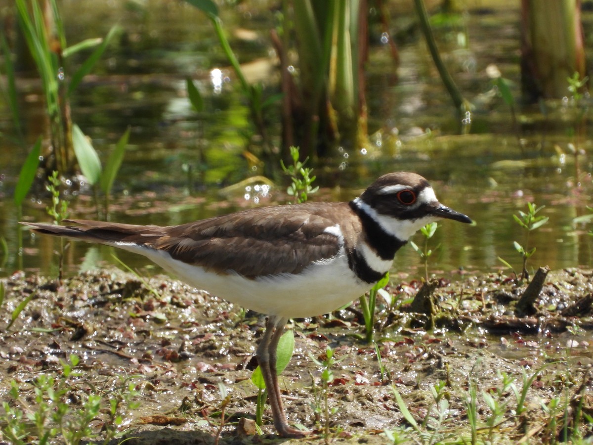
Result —
M 238 274 L 219 275 L 171 258 L 166 252 L 136 245 L 120 249 L 141 253 L 181 281 L 263 314 L 280 317 L 313 317 L 335 310 L 371 288 L 347 265 L 346 255 L 318 263 L 301 274 L 247 279 Z

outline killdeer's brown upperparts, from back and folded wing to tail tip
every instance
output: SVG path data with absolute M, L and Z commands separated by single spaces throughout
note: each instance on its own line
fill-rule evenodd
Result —
M 91 243 L 133 243 L 164 250 L 186 263 L 253 278 L 297 274 L 315 261 L 337 255 L 342 240 L 326 229 L 352 216 L 347 203 L 325 202 L 248 209 L 169 227 L 89 220 L 66 221 L 78 226 L 23 224 L 39 233 Z M 357 229 L 350 224 L 342 231 Z

